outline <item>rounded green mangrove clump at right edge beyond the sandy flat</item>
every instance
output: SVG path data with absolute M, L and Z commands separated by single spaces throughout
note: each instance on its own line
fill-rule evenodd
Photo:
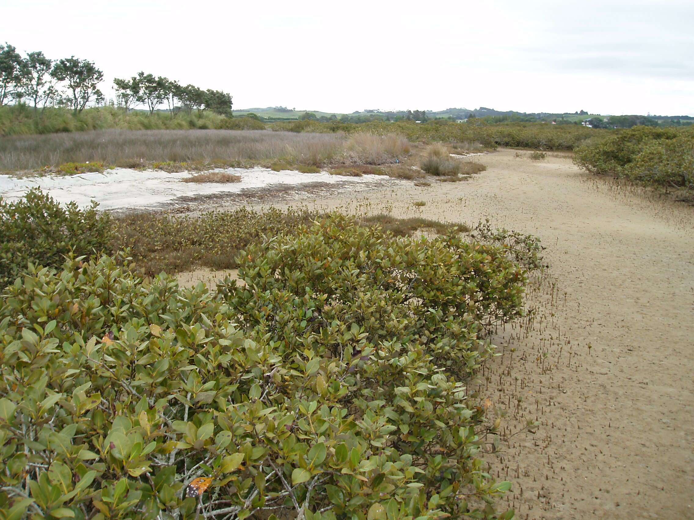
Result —
M 576 150 L 574 162 L 591 173 L 691 192 L 694 191 L 694 131 L 635 126 L 582 146 Z

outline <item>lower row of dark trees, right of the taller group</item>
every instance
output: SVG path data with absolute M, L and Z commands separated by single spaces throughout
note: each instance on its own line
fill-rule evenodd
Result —
M 223 116 L 232 116 L 232 96 L 220 90 L 203 90 L 195 85 L 180 85 L 176 80 L 138 72 L 128 79 L 113 80 L 118 103 L 130 111 L 135 105 L 144 105 L 152 114 L 158 107 L 167 105 L 171 115 L 181 108 L 188 114 L 196 110 L 201 114 L 210 110 Z

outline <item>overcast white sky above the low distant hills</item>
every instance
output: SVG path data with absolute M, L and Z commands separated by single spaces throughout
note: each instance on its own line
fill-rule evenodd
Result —
M 237 109 L 694 115 L 692 0 L 0 0 L 0 41 Z

